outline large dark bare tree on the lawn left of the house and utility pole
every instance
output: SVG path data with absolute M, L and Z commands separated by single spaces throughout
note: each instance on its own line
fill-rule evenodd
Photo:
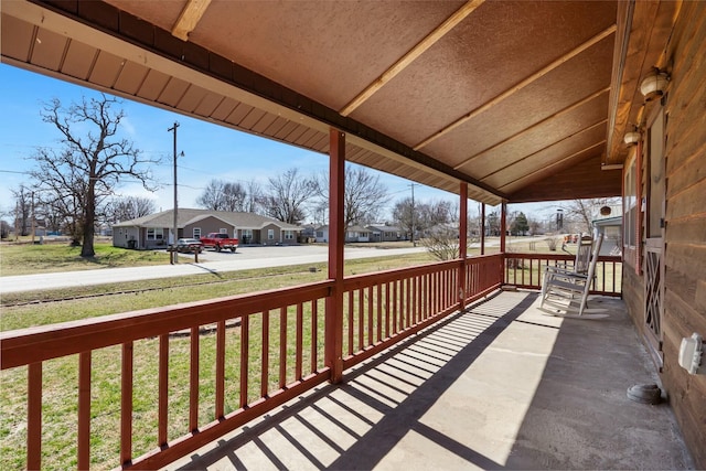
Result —
M 63 148 L 39 149 L 33 157 L 39 167 L 31 174 L 43 202 L 65 215 L 74 243 L 83 239 L 82 257 L 95 255 L 99 207 L 120 179 L 137 179 L 152 190 L 151 174 L 143 165 L 158 160 L 142 159 L 131 142 L 118 136 L 125 114 L 114 109 L 117 104 L 117 98 L 101 95 L 63 108 L 54 98 L 41 113 L 44 122 L 62 135 Z

